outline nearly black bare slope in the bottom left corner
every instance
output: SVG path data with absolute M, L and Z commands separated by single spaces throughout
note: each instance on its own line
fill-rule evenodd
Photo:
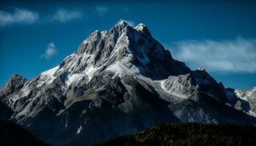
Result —
M 25 129 L 9 120 L 0 120 L 0 145 L 45 145 Z

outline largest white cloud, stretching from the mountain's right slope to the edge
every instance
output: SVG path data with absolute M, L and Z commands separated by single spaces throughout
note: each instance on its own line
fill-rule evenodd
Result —
M 210 72 L 256 72 L 256 39 L 176 42 L 170 48 L 174 58 L 192 68 Z

